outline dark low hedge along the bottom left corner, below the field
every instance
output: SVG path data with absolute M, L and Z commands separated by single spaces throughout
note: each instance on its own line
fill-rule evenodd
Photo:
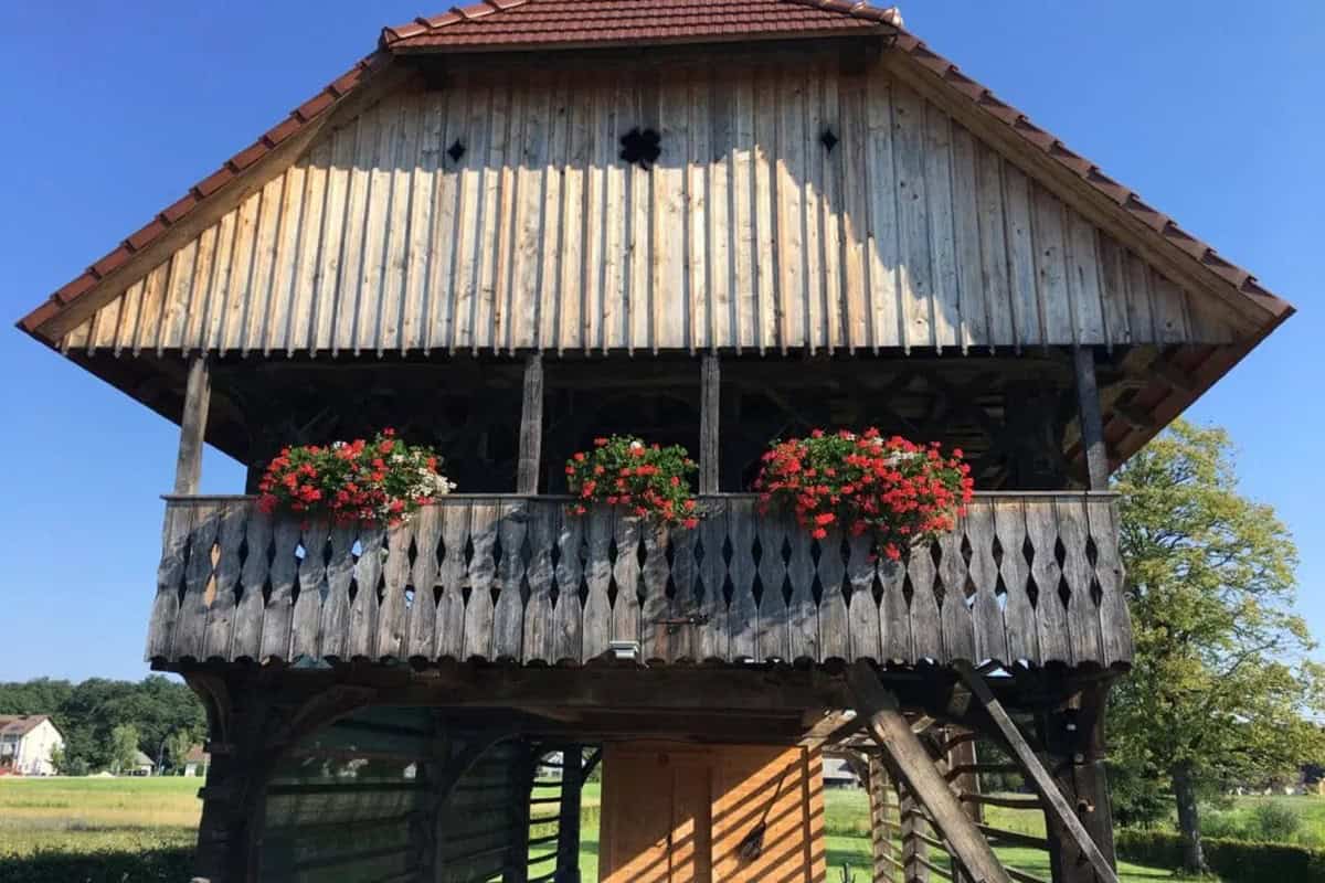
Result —
M 193 850 L 158 849 L 143 853 L 106 850 L 70 853 L 37 850 L 26 855 L 0 854 L 5 883 L 179 883 L 193 875 Z

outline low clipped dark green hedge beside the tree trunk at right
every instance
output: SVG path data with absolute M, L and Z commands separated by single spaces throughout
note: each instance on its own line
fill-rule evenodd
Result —
M 1182 866 L 1182 838 L 1171 831 L 1122 829 L 1114 845 L 1118 857 L 1129 862 L 1167 868 Z M 1228 883 L 1325 880 L 1325 850 L 1219 837 L 1202 838 L 1202 845 L 1210 870 Z

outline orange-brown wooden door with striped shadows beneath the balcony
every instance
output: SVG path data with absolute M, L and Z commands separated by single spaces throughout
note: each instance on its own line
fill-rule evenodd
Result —
M 608 745 L 599 880 L 822 883 L 819 755 L 767 745 Z M 761 822 L 762 850 L 741 855 Z

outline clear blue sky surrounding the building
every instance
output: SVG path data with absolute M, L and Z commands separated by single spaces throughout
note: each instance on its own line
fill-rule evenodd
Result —
M 641 0 L 644 1 L 644 0 Z M 425 0 L 0 4 L 0 316 L 17 319 Z M 1301 547 L 1325 637 L 1325 4 L 902 4 L 1004 101 L 1251 267 L 1300 312 L 1190 416 L 1228 428 L 1244 492 Z M 0 679 L 138 678 L 178 430 L 0 330 Z M 242 488 L 211 454 L 204 491 Z

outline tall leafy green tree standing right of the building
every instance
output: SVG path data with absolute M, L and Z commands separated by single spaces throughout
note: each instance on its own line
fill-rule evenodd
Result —
M 1238 494 L 1222 429 L 1177 421 L 1116 487 L 1137 651 L 1114 694 L 1114 757 L 1153 788 L 1167 780 L 1199 872 L 1198 798 L 1318 757 L 1325 678 L 1293 612 L 1297 549 Z

